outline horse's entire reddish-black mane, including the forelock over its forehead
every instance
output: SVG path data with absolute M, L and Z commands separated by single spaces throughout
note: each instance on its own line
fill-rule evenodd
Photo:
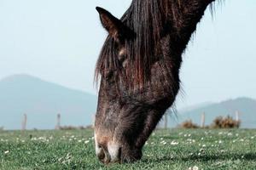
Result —
M 221 0 L 223 1 L 223 0 Z M 126 58 L 124 68 L 119 64 L 116 42 L 108 36 L 96 63 L 95 80 L 116 71 L 119 80 L 130 87 L 143 87 L 150 79 L 150 69 L 157 59 L 160 40 L 179 22 L 178 10 L 185 0 L 133 0 L 121 21 L 136 33 L 136 38 L 125 41 Z M 214 11 L 213 6 L 211 6 Z M 173 32 L 174 34 L 177 32 Z M 163 66 L 164 67 L 164 66 Z M 164 68 L 166 69 L 166 68 Z

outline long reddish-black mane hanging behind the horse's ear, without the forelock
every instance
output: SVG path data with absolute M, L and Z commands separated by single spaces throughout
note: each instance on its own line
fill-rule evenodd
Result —
M 128 82 L 132 85 L 143 85 L 150 77 L 150 68 L 154 64 L 167 19 L 168 0 L 142 1 L 131 3 L 131 8 L 122 17 L 126 26 L 137 34 L 135 42 L 126 44 L 128 65 Z M 130 74 L 130 75 L 129 75 Z M 129 80 L 132 78 L 133 80 Z

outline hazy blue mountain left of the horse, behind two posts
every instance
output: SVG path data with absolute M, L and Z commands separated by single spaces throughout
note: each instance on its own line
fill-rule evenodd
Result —
M 57 114 L 61 125 L 92 123 L 96 96 L 62 87 L 28 75 L 14 75 L 0 81 L 0 127 L 20 129 L 23 115 L 27 128 L 51 129 Z

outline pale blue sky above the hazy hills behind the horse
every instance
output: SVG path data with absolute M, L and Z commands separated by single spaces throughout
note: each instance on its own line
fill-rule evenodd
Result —
M 0 0 L 0 79 L 29 74 L 96 94 L 96 59 L 107 36 L 96 6 L 121 17 L 131 0 Z M 226 0 L 209 10 L 183 54 L 186 107 L 256 99 L 256 2 Z

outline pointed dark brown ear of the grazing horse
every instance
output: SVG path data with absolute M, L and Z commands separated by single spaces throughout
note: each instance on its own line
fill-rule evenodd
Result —
M 108 31 L 109 35 L 114 38 L 115 41 L 120 42 L 125 37 L 125 28 L 121 20 L 115 18 L 106 9 L 96 7 L 96 10 L 100 14 L 102 26 Z

